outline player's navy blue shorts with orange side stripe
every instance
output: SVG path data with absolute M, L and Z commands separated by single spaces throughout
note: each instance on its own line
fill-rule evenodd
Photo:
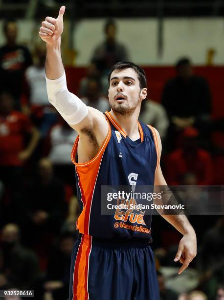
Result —
M 159 300 L 149 241 L 80 235 L 71 257 L 69 300 Z

